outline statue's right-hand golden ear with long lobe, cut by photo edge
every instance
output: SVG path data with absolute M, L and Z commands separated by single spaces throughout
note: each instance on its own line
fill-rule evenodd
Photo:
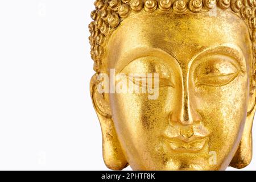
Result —
M 245 121 L 245 127 L 243 129 L 242 139 L 238 146 L 237 152 L 234 155 L 232 162 L 230 163 L 230 166 L 234 168 L 241 169 L 248 166 L 251 162 L 251 158 L 253 155 L 253 142 L 251 130 L 253 127 L 253 119 L 256 109 L 255 93 L 255 86 L 253 86 L 253 88 L 251 88 L 247 117 Z

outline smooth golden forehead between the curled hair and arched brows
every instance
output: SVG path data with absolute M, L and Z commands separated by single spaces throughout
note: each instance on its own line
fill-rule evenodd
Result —
M 241 18 L 228 11 L 217 10 L 216 16 L 142 11 L 124 19 L 110 36 L 105 68 L 121 68 L 132 61 L 129 57 L 132 59 L 133 55 L 143 53 L 145 48 L 161 49 L 185 66 L 205 48 L 226 43 L 240 47 L 246 61 L 250 60 L 249 28 Z

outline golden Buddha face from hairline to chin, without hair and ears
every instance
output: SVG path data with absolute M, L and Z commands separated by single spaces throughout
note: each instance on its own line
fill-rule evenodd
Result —
M 157 98 L 104 96 L 116 134 L 112 144 L 135 170 L 223 170 L 240 144 L 253 105 L 248 27 L 222 10 L 191 14 L 134 13 L 106 45 L 108 75 L 110 69 L 158 74 Z

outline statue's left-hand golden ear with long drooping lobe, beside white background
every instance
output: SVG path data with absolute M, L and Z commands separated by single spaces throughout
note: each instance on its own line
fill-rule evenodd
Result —
M 109 101 L 106 94 L 98 92 L 100 82 L 96 73 L 90 80 L 90 96 L 98 119 L 100 120 L 102 131 L 103 158 L 106 166 L 113 170 L 122 170 L 128 166 L 128 162 L 123 155 L 121 145 L 115 132 Z

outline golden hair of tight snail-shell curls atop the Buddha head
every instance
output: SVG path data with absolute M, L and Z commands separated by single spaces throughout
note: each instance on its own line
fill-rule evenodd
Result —
M 245 20 L 250 27 L 252 40 L 255 40 L 255 7 L 256 0 L 97 0 L 96 10 L 92 11 L 93 22 L 89 24 L 91 36 L 91 55 L 94 60 L 94 70 L 100 72 L 102 59 L 105 56 L 105 46 L 109 36 L 119 26 L 123 19 L 131 13 L 146 11 L 152 13 L 160 10 L 165 13 L 174 12 L 179 15 L 192 12 L 210 11 L 215 7 L 228 10 Z

